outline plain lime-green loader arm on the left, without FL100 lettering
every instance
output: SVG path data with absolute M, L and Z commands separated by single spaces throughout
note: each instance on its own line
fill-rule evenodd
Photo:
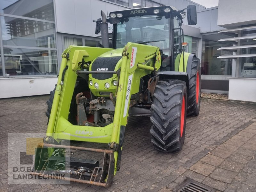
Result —
M 70 101 L 77 78 L 76 70 L 79 69 L 82 65 L 82 60 L 84 59 L 85 63 L 91 62 L 99 55 L 110 50 L 113 49 L 70 45 L 62 53 L 62 61 L 60 64 L 58 82 L 56 85 L 51 115 L 49 118 L 49 123 L 46 131 L 46 141 L 48 140 L 48 137 L 52 137 L 54 130 L 56 131 L 56 129 L 54 128 L 56 126 L 56 119 L 58 119 L 57 116 L 64 116 L 66 118 L 68 117 Z M 66 67 L 68 69 L 66 70 L 65 75 L 63 74 L 63 71 Z M 63 75 L 65 76 L 62 77 Z M 65 84 L 62 82 L 62 79 L 64 79 Z M 63 103 L 65 103 L 65 105 L 63 105 Z

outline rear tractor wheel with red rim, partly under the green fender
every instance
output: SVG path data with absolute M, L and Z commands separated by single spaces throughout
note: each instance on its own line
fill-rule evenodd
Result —
M 193 58 L 188 82 L 187 116 L 198 116 L 201 102 L 201 66 L 198 58 Z

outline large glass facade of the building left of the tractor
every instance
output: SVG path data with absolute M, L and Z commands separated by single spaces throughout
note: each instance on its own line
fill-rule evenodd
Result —
M 58 74 L 53 1 L 2 1 L 0 75 Z

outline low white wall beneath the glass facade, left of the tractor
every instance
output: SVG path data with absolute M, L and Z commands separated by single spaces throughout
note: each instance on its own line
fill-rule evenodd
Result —
M 58 77 L 20 77 L 0 79 L 0 98 L 49 94 Z

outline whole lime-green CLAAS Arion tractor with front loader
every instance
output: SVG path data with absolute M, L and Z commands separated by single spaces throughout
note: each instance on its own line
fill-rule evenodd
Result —
M 108 187 L 120 169 L 128 116 L 150 117 L 155 149 L 181 151 L 186 116 L 198 115 L 201 92 L 200 61 L 184 52 L 185 10 L 188 24 L 195 25 L 195 5 L 180 11 L 129 9 L 109 17 L 101 11 L 102 19 L 94 22 L 103 46 L 69 46 L 62 54 L 58 82 L 47 101 L 46 137 L 31 174 L 63 172 L 72 175 L 70 181 Z M 104 143 L 107 149 L 69 147 L 63 140 Z M 102 165 L 73 157 L 67 162 L 63 148 L 103 153 Z

